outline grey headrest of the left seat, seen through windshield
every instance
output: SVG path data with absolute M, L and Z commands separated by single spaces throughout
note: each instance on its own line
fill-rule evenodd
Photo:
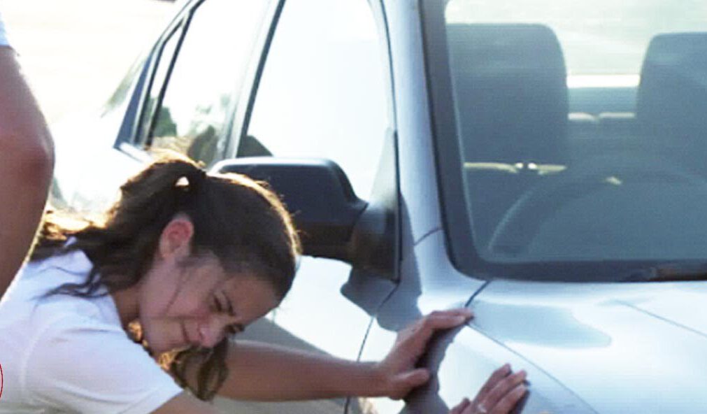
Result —
M 464 160 L 563 162 L 567 81 L 554 32 L 451 24 L 447 37 Z

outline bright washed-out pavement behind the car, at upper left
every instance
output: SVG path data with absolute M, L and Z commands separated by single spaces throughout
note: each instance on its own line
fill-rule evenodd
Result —
M 11 45 L 50 124 L 100 107 L 175 8 L 158 0 L 0 0 Z

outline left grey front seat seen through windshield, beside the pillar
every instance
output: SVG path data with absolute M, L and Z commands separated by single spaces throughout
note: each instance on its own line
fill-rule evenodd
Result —
M 447 28 L 457 126 L 477 243 L 539 179 L 567 162 L 568 89 L 556 35 L 537 24 Z

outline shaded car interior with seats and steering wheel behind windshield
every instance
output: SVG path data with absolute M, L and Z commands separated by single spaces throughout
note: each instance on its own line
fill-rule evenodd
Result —
M 447 36 L 482 256 L 701 257 L 707 32 L 655 35 L 640 82 L 614 84 L 573 82 L 547 25 L 455 23 Z

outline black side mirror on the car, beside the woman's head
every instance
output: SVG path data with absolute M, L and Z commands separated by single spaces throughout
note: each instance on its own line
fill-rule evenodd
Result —
M 394 215 L 359 199 L 331 160 L 252 157 L 218 162 L 215 172 L 236 172 L 268 182 L 293 215 L 304 254 L 346 261 L 391 277 Z

